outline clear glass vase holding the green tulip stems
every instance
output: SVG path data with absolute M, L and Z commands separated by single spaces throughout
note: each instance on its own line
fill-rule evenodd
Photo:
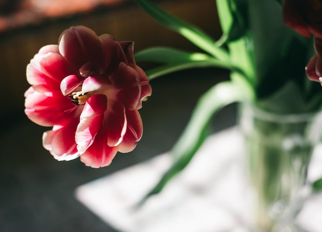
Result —
M 304 231 L 296 226 L 307 171 L 321 133 L 321 113 L 274 114 L 240 107 L 247 176 L 251 186 L 251 231 Z

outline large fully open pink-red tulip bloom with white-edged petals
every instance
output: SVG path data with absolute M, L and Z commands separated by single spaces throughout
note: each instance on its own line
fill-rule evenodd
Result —
M 42 47 L 27 65 L 27 117 L 42 126 L 43 146 L 57 160 L 109 165 L 142 136 L 138 109 L 151 95 L 135 64 L 133 42 L 97 36 L 84 26 L 65 30 L 58 45 Z

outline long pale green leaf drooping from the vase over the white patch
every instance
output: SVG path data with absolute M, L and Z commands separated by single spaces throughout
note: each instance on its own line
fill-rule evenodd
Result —
M 211 117 L 224 106 L 241 101 L 253 101 L 253 95 L 248 89 L 241 88 L 234 82 L 221 82 L 202 95 L 196 105 L 192 117 L 171 150 L 174 162 L 170 169 L 164 174 L 158 184 L 142 199 L 141 203 L 154 194 L 160 192 L 166 183 L 180 172 L 190 162 L 194 153 L 200 148 L 206 138 L 206 131 Z

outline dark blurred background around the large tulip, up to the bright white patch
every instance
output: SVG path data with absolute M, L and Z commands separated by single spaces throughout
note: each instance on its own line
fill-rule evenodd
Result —
M 213 0 L 155 1 L 199 26 L 221 35 Z M 38 50 L 57 44 L 63 30 L 84 25 L 98 35 L 134 41 L 135 51 L 171 46 L 198 51 L 190 42 L 154 22 L 132 0 L 0 0 L 0 231 L 117 231 L 75 198 L 75 188 L 168 151 L 180 136 L 199 96 L 228 79 L 221 69 L 192 69 L 151 81 L 152 96 L 140 110 L 144 136 L 136 149 L 117 154 L 109 167 L 92 169 L 79 159 L 58 162 L 42 147 L 50 128 L 24 114 L 26 65 Z M 236 107 L 217 114 L 213 131 L 235 124 Z M 144 180 L 142 180 L 144 181 Z M 125 220 L 125 219 L 124 219 Z

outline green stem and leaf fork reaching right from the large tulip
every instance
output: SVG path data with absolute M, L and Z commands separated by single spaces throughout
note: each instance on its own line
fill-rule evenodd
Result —
M 219 61 L 205 53 L 187 52 L 168 47 L 153 47 L 142 50 L 135 54 L 135 60 L 136 62 L 149 61 L 162 64 L 146 71 L 150 80 L 170 72 L 188 68 L 218 67 L 238 71 L 228 62 Z

